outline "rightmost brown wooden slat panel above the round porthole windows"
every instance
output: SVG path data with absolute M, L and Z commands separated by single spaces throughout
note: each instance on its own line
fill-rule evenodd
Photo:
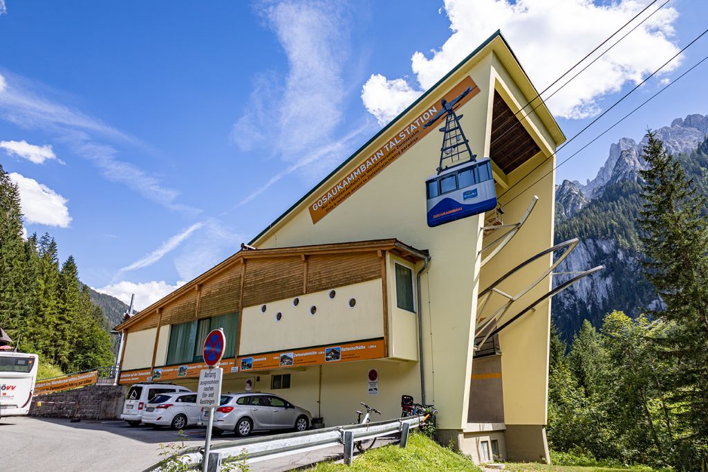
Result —
M 313 255 L 308 258 L 307 293 L 381 277 L 376 252 Z

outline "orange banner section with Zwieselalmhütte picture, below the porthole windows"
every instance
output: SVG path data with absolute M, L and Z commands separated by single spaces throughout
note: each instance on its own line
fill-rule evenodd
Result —
M 268 354 L 239 357 L 239 371 L 264 371 L 284 367 L 316 366 L 337 362 L 379 359 L 384 356 L 384 339 L 332 344 Z

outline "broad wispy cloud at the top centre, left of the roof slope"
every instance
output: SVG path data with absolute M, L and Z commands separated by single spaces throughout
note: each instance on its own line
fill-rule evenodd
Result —
M 329 140 L 343 118 L 347 13 L 338 4 L 284 1 L 259 11 L 289 66 L 281 83 L 261 74 L 232 137 L 242 150 L 265 148 L 287 162 Z

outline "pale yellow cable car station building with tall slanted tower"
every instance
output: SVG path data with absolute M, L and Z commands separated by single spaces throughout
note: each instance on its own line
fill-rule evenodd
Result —
M 491 158 L 499 230 L 494 210 L 426 223 L 425 182 L 442 135 L 439 123 L 423 123 L 468 87 L 457 113 L 472 152 Z M 476 461 L 547 461 L 543 297 L 553 254 L 543 252 L 554 244 L 554 152 L 564 139 L 495 33 L 265 228 L 255 249 L 116 327 L 125 335 L 120 383 L 196 388 L 205 335 L 222 327 L 224 392 L 251 379 L 254 391 L 282 395 L 327 426 L 352 422 L 360 401 L 382 420 L 398 417 L 401 395 L 412 395 L 439 411 L 439 439 Z M 486 321 L 492 329 L 513 319 L 475 344 Z

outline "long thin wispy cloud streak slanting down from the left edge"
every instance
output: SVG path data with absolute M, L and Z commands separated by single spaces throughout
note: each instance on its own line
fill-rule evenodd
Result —
M 118 159 L 120 150 L 116 145 L 127 147 L 130 152 L 150 153 L 154 152 L 152 148 L 98 118 L 47 99 L 36 88 L 14 74 L 0 75 L 0 117 L 22 128 L 55 135 L 69 150 L 92 162 L 105 179 L 123 184 L 149 201 L 171 210 L 198 213 L 195 208 L 176 203 L 179 192 L 164 186 L 156 176 Z

